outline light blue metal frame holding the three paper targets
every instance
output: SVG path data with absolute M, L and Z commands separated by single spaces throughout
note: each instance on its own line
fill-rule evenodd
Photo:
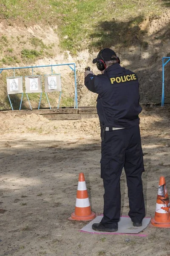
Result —
M 34 68 L 39 68 L 39 67 L 51 67 L 51 74 L 53 75 L 53 67 L 57 67 L 57 66 L 68 66 L 71 68 L 72 71 L 74 71 L 74 81 L 75 81 L 75 91 L 74 91 L 74 108 L 78 108 L 78 105 L 77 105 L 77 77 L 76 77 L 76 64 L 75 63 L 66 63 L 66 64 L 51 64 L 51 65 L 42 65 L 42 66 L 28 66 L 28 67 L 10 67 L 10 68 L 0 68 L 0 73 L 2 73 L 3 70 L 13 70 L 14 71 L 14 76 L 15 76 L 15 70 L 16 69 L 26 69 L 26 68 L 32 68 L 32 75 L 34 75 Z M 72 67 L 74 66 L 74 67 Z M 31 104 L 30 104 L 30 101 L 29 101 L 29 98 L 28 98 L 28 95 L 26 93 L 26 96 L 27 96 L 27 99 L 28 99 L 28 102 L 29 102 L 29 105 L 30 105 L 30 108 L 31 108 Z M 47 96 L 47 95 L 46 95 Z M 40 96 L 40 102 L 39 102 L 39 108 L 40 108 L 40 103 L 41 103 L 41 98 L 42 98 L 42 93 L 41 93 L 41 96 Z M 11 104 L 11 100 L 8 96 L 8 99 L 9 99 L 9 102 Z M 60 92 L 60 96 L 59 96 L 59 102 L 60 102 L 60 99 L 61 99 L 61 92 Z M 23 100 L 23 96 L 22 96 L 22 100 Z M 48 100 L 48 96 L 47 96 L 47 100 Z M 49 100 L 48 100 L 49 102 Z M 22 104 L 22 102 L 21 102 Z M 20 108 L 21 108 L 21 104 L 20 104 Z M 50 104 L 49 104 L 50 106 Z M 11 108 L 12 110 L 13 107 L 11 105 Z M 39 109 L 38 108 L 38 109 Z M 50 106 L 51 108 L 51 106 Z M 58 107 L 59 108 L 59 104 L 58 104 Z M 32 110 L 32 108 L 31 108 Z

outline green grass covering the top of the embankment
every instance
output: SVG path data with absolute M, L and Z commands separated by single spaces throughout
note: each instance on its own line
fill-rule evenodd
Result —
M 57 25 L 62 49 L 76 53 L 89 43 L 91 47 L 105 46 L 105 41 L 108 46 L 115 44 L 122 29 L 136 28 L 132 32 L 140 33 L 144 17 L 161 15 L 168 5 L 167 0 L 0 0 L 0 17 L 9 25 Z M 124 38 L 120 43 L 131 42 Z

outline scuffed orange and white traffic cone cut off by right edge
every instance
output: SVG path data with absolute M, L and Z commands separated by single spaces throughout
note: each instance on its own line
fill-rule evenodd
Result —
M 152 218 L 150 222 L 156 227 L 170 227 L 170 201 L 167 194 L 165 178 L 163 176 L 161 176 L 159 180 L 155 217 Z

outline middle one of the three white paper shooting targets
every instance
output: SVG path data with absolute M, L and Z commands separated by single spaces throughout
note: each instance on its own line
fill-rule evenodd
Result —
M 26 76 L 26 93 L 42 93 L 41 76 Z

